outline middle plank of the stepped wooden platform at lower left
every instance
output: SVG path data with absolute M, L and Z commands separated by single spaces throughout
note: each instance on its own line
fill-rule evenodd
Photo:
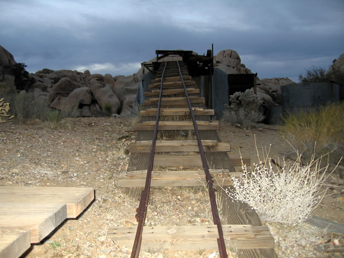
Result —
M 67 219 L 62 203 L 0 203 L 0 228 L 30 230 L 31 243 L 38 243 Z

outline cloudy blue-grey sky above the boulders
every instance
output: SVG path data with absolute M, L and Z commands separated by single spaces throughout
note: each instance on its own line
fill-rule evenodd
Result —
M 297 81 L 344 53 L 343 0 L 0 0 L 0 45 L 29 72 L 130 75 L 156 49 L 234 49 L 260 78 Z

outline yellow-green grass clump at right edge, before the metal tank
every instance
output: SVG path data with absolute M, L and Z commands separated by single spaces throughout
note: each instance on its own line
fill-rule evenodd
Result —
M 281 134 L 303 156 L 310 159 L 332 151 L 337 162 L 344 149 L 344 102 L 321 107 L 318 111 L 289 114 L 283 119 Z

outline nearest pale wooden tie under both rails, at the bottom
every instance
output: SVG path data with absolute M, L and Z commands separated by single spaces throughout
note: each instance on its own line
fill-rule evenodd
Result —
M 222 225 L 225 243 L 237 248 L 271 248 L 273 237 L 267 227 L 251 225 Z M 136 227 L 114 227 L 107 237 L 122 245 L 132 246 Z M 144 227 L 141 249 L 216 250 L 216 225 Z

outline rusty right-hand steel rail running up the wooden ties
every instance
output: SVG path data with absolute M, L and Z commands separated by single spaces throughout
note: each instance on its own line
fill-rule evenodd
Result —
M 218 231 L 218 238 L 217 238 L 218 250 L 219 250 L 221 258 L 227 258 L 227 251 L 226 251 L 226 247 L 225 247 L 225 244 L 224 244 L 223 231 L 222 231 L 222 226 L 221 226 L 221 222 L 220 222 L 220 217 L 218 216 L 218 210 L 217 210 L 217 204 L 216 204 L 216 198 L 215 198 L 215 191 L 214 191 L 214 187 L 213 187 L 213 182 L 214 181 L 212 180 L 212 178 L 210 176 L 207 159 L 205 157 L 205 153 L 204 153 L 204 149 L 203 149 L 203 145 L 202 145 L 202 141 L 201 141 L 201 136 L 200 136 L 199 131 L 198 131 L 197 122 L 196 122 L 195 115 L 194 115 L 194 112 L 193 112 L 192 107 L 191 107 L 191 102 L 190 102 L 190 99 L 189 99 L 188 91 L 186 89 L 186 85 L 185 85 L 184 78 L 183 78 L 183 75 L 182 75 L 182 72 L 181 72 L 181 68 L 180 68 L 180 65 L 179 65 L 178 61 L 177 61 L 177 64 L 178 64 L 179 74 L 181 76 L 181 79 L 182 79 L 182 82 L 183 82 L 183 85 L 184 85 L 184 91 L 185 91 L 186 99 L 188 101 L 188 105 L 189 105 L 189 109 L 190 109 L 190 115 L 192 117 L 192 121 L 193 121 L 193 124 L 194 124 L 196 138 L 197 138 L 197 142 L 198 142 L 198 148 L 199 148 L 199 151 L 200 151 L 200 154 L 201 154 L 202 165 L 203 165 L 203 169 L 204 169 L 204 172 L 205 172 L 205 178 L 207 180 L 207 185 L 208 185 L 208 189 L 209 189 L 211 213 L 212 213 L 212 216 L 213 216 L 214 224 L 217 226 L 217 231 Z

